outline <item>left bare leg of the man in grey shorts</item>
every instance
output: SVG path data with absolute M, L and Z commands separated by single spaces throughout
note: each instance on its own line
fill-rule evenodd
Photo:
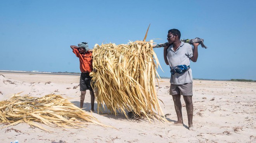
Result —
M 182 104 L 180 101 L 180 94 L 172 95 L 173 96 L 173 102 L 175 111 L 177 114 L 178 121 L 176 121 L 174 124 L 178 126 L 183 126 L 183 120 L 182 120 Z

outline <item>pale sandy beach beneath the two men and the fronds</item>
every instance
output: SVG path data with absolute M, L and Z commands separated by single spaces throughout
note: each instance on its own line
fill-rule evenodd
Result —
M 79 75 L 0 72 L 0 101 L 14 93 L 42 97 L 61 94 L 79 106 Z M 168 122 L 147 119 L 127 119 L 124 114 L 89 113 L 101 123 L 114 128 L 89 125 L 67 129 L 42 126 L 52 132 L 31 128 L 28 124 L 2 128 L 0 142 L 10 143 L 255 143 L 256 142 L 256 82 L 193 81 L 193 124 L 188 130 L 185 102 L 182 99 L 184 126 L 174 126 L 176 113 L 169 95 L 169 79 L 159 79 L 157 96 Z M 86 93 L 84 110 L 90 111 L 90 94 Z M 97 101 L 95 101 L 97 109 Z M 116 128 L 116 129 L 115 129 Z

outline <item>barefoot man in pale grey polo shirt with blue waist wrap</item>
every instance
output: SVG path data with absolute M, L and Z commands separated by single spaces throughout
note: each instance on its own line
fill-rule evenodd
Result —
M 168 31 L 167 40 L 169 45 L 164 47 L 164 61 L 171 68 L 170 95 L 173 96 L 173 102 L 178 121 L 175 125 L 183 126 L 181 95 L 186 104 L 189 120 L 189 130 L 193 127 L 193 102 L 192 102 L 192 70 L 190 69 L 190 60 L 197 61 L 199 43 L 194 43 L 194 48 L 190 44 L 180 41 L 180 31 L 171 29 Z

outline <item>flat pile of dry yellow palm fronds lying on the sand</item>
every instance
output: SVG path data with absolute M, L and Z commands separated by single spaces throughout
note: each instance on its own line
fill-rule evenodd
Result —
M 3 128 L 28 123 L 49 131 L 35 122 L 64 128 L 86 128 L 88 124 L 105 126 L 60 95 L 48 94 L 36 98 L 14 94 L 9 100 L 0 101 L 0 123 L 8 124 Z

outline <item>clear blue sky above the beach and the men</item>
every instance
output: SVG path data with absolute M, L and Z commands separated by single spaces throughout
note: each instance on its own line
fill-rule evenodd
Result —
M 0 70 L 80 72 L 70 45 L 167 42 L 169 29 L 181 39 L 200 37 L 193 78 L 256 80 L 256 1 L 254 0 L 2 0 Z M 163 49 L 155 49 L 170 77 Z

